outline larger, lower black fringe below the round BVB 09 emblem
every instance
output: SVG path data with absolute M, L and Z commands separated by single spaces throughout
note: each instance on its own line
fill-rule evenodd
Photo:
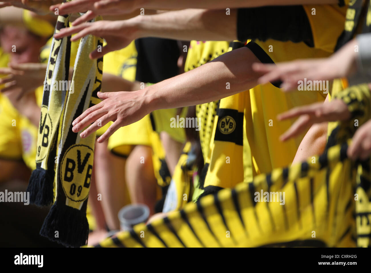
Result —
M 55 203 L 44 220 L 40 235 L 66 247 L 84 246 L 89 235 L 86 213 L 66 205 L 57 206 Z

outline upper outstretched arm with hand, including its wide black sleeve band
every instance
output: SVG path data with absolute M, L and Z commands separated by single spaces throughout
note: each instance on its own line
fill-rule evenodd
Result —
M 124 48 L 132 40 L 143 37 L 221 41 L 276 39 L 305 41 L 314 46 L 311 25 L 302 6 L 231 9 L 229 14 L 225 10 L 186 9 L 138 15 L 115 22 L 82 23 L 84 16 L 73 22 L 74 27 L 62 29 L 55 34 L 55 38 L 60 39 L 73 33 L 77 34 L 72 37 L 72 41 L 86 35 L 104 38 L 107 45 L 102 50 L 93 51 L 91 58 L 99 58 L 110 51 Z M 277 20 L 279 23 L 276 23 Z M 271 26 L 273 23 L 275 25 Z M 287 27 L 290 25 L 297 27 Z

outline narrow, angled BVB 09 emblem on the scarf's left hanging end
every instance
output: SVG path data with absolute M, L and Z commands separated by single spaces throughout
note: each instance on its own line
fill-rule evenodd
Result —
M 52 120 L 50 119 L 47 107 L 42 105 L 40 125 L 37 136 L 37 150 L 36 150 L 36 161 L 43 160 L 47 153 L 47 146 L 49 145 L 50 138 L 52 136 Z

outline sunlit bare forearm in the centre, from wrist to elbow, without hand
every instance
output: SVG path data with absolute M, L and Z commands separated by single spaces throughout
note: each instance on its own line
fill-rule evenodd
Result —
M 251 64 L 259 59 L 248 48 L 236 49 L 184 74 L 142 90 L 151 111 L 207 103 L 248 90 L 259 74 Z

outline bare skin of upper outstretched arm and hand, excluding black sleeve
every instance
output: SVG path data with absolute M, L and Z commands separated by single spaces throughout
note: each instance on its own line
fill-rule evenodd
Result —
M 216 20 L 217 18 L 217 20 Z M 81 23 L 81 17 L 73 22 L 73 27 L 62 29 L 54 37 L 59 39 L 78 33 L 72 37 L 76 41 L 92 34 L 104 38 L 107 45 L 98 52 L 91 53 L 91 58 L 127 46 L 132 40 L 143 37 L 159 37 L 175 40 L 235 40 L 237 10 L 226 15 L 223 10 L 187 9 L 161 14 L 141 16 L 128 20 L 98 21 Z M 76 26 L 77 25 L 77 26 Z

